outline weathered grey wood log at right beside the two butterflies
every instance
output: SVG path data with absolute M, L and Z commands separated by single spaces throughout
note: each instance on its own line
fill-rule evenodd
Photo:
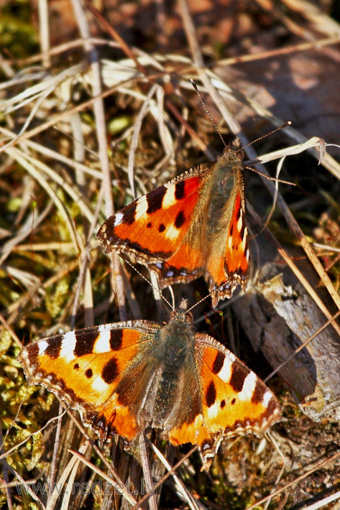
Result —
M 264 233 L 256 244 L 257 283 L 232 308 L 255 352 L 261 351 L 276 369 L 327 319 Z M 301 259 L 297 265 L 316 289 L 319 279 L 305 254 L 291 248 L 290 254 L 294 260 Z M 318 289 L 318 294 L 333 314 L 334 304 L 323 291 Z M 280 368 L 278 375 L 311 419 L 340 418 L 340 338 L 332 325 Z

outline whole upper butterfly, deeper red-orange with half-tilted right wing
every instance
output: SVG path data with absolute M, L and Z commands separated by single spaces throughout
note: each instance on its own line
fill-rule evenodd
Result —
M 249 246 L 243 151 L 234 140 L 223 156 L 203 163 L 134 200 L 100 227 L 108 253 L 132 254 L 159 277 L 160 287 L 203 276 L 213 307 L 244 289 Z

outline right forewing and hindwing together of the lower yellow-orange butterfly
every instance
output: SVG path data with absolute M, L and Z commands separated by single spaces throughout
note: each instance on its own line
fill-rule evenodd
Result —
M 190 415 L 182 409 L 169 432 L 173 444 L 199 444 L 206 459 L 216 453 L 223 437 L 248 432 L 261 436 L 280 419 L 275 395 L 215 339 L 196 334 L 194 357 L 201 411 Z

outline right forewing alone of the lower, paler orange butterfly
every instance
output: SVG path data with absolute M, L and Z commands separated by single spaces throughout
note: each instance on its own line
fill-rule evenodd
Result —
M 217 430 L 216 417 L 226 435 L 242 431 L 262 435 L 280 416 L 275 395 L 232 352 L 207 335 L 196 335 L 201 359 L 208 427 Z

